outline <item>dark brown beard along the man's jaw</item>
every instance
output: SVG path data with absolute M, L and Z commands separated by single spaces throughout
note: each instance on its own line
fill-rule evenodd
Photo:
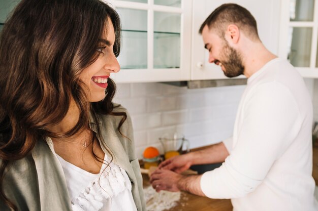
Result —
M 227 77 L 236 77 L 244 73 L 244 66 L 242 64 L 241 55 L 225 41 L 225 46 L 223 47 L 224 57 L 227 57 L 227 61 L 221 61 L 222 66 L 224 66 L 224 74 Z

